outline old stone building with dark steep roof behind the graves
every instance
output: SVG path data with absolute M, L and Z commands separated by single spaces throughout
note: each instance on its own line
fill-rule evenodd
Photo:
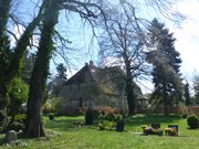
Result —
M 63 110 L 73 114 L 77 113 L 80 107 L 107 106 L 127 109 L 124 88 L 124 72 L 119 67 L 101 68 L 90 61 L 62 87 L 60 94 L 66 100 Z M 138 86 L 134 93 L 136 97 L 142 96 Z

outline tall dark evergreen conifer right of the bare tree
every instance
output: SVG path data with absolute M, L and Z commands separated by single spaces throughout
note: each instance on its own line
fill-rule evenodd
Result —
M 165 24 L 157 19 L 151 21 L 149 26 L 149 49 L 147 60 L 153 64 L 153 82 L 155 91 L 153 98 L 158 98 L 164 104 L 165 115 L 168 114 L 168 106 L 178 104 L 182 95 L 182 83 L 179 67 L 180 54 L 175 50 L 172 33 L 169 33 Z

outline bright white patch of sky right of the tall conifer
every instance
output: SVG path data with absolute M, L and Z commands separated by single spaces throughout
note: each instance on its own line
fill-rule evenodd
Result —
M 176 50 L 181 54 L 181 73 L 191 79 L 199 72 L 199 0 L 185 0 L 177 3 L 178 10 L 187 18 L 179 26 L 170 26 L 176 41 Z

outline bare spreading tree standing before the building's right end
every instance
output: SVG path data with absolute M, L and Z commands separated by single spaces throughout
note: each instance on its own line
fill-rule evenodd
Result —
M 144 72 L 144 42 L 136 30 L 134 11 L 127 15 L 118 7 L 104 11 L 107 19 L 103 26 L 105 32 L 100 36 L 100 55 L 102 61 L 112 61 L 107 65 L 119 65 L 124 70 L 128 110 L 133 115 L 136 110 L 134 79 Z

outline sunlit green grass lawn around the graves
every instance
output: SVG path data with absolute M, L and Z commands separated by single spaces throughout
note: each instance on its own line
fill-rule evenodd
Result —
M 75 121 L 83 117 L 55 117 L 49 120 L 44 117 L 48 131 L 46 138 L 19 139 L 19 146 L 3 145 L 0 148 L 25 149 L 199 149 L 199 129 L 187 129 L 187 121 L 180 116 L 144 116 L 128 117 L 125 132 L 98 130 L 97 125 L 77 127 Z M 169 124 L 179 125 L 180 137 L 140 136 L 140 125 L 160 123 L 161 128 Z M 4 136 L 0 135 L 0 139 Z

